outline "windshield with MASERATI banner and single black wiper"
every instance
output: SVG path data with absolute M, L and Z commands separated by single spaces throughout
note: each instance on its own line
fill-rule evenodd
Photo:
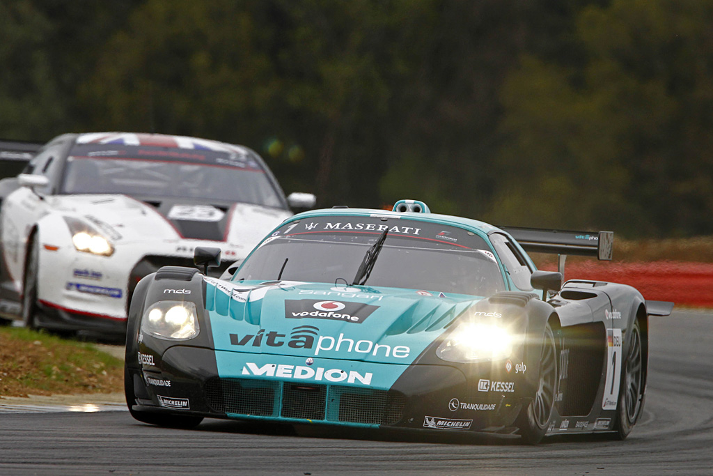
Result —
M 438 223 L 362 216 L 287 223 L 250 255 L 233 280 L 352 284 L 379 238 L 383 244 L 369 263 L 364 285 L 479 296 L 505 289 L 491 248 L 472 232 Z

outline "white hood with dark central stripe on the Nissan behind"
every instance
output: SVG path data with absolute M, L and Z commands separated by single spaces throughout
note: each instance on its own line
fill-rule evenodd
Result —
M 210 203 L 185 198 L 123 195 L 56 196 L 53 206 L 89 221 L 116 243 L 211 240 L 245 248 L 259 243 L 291 216 L 288 211 L 248 203 Z

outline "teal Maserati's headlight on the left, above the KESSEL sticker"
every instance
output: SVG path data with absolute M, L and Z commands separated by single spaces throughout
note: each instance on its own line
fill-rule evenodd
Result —
M 141 320 L 141 331 L 161 339 L 187 340 L 198 335 L 195 304 L 159 301 L 148 308 Z

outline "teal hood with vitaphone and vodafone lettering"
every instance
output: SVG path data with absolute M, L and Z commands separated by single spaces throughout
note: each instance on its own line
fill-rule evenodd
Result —
M 395 288 L 206 281 L 216 350 L 411 364 L 476 300 Z

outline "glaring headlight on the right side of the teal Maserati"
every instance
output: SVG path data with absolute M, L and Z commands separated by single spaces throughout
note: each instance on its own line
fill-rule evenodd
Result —
M 436 349 L 436 355 L 450 362 L 474 362 L 508 358 L 513 337 L 498 325 L 462 323 Z

